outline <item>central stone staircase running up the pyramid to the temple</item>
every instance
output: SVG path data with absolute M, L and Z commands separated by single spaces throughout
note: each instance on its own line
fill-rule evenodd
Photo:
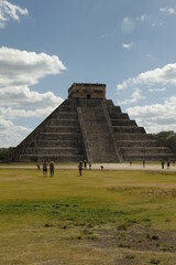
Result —
M 79 112 L 84 128 L 90 160 L 92 162 L 119 161 L 108 123 L 105 116 L 101 99 L 79 99 Z

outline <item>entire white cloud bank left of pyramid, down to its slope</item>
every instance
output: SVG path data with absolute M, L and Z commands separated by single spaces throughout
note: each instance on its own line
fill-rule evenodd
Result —
M 64 70 L 66 67 L 56 55 L 0 49 L 0 146 L 14 146 L 31 131 L 12 120 L 46 117 L 63 102 L 53 92 L 38 93 L 30 86 Z

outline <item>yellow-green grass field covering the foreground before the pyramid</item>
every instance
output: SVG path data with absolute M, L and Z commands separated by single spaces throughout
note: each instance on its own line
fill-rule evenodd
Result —
M 0 264 L 176 264 L 176 173 L 0 167 Z

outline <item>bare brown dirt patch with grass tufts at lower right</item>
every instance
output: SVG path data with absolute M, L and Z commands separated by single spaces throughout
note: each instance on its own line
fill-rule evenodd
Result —
M 125 247 L 133 251 L 176 253 L 176 231 L 153 230 L 142 225 L 119 226 L 110 231 L 98 231 L 100 237 L 94 246 L 100 248 Z

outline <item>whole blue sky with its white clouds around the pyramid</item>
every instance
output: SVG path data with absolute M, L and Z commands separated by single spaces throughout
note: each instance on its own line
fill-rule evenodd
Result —
M 74 82 L 147 132 L 176 130 L 174 0 L 0 0 L 0 147 L 16 146 Z

